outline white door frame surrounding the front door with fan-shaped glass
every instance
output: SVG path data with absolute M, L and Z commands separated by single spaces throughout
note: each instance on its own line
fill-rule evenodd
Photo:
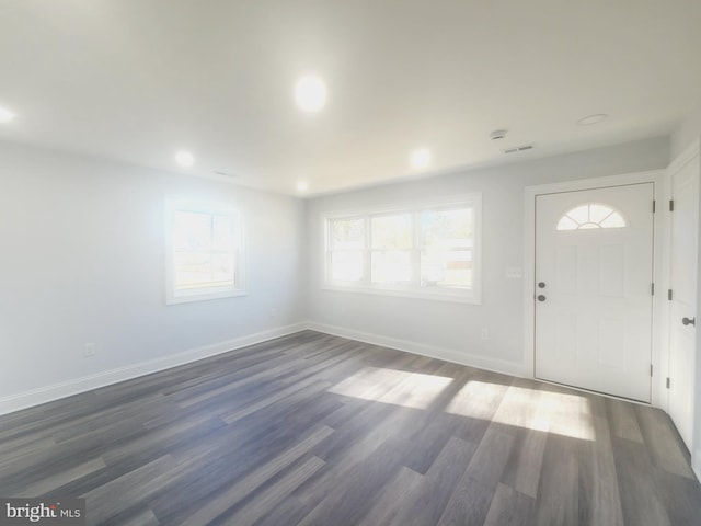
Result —
M 669 361 L 665 359 L 667 353 L 663 345 L 663 335 L 667 333 L 665 309 L 666 302 L 662 294 L 666 284 L 666 261 L 663 258 L 665 242 L 667 240 L 666 225 L 667 214 L 665 207 L 668 190 L 666 187 L 665 170 L 652 170 L 646 172 L 623 173 L 605 178 L 581 179 L 558 183 L 526 186 L 524 191 L 524 370 L 536 378 L 536 196 L 558 192 L 575 192 L 579 190 L 602 188 L 607 186 L 621 186 L 627 184 L 653 183 L 654 199 L 657 203 L 654 231 L 653 231 L 653 279 L 655 283 L 655 296 L 653 298 L 652 320 L 652 398 L 651 404 L 666 409 L 667 390 L 665 378 L 669 368 Z M 541 380 L 544 381 L 544 380 Z M 616 397 L 613 397 L 616 398 Z M 643 403 L 643 402 L 639 402 Z

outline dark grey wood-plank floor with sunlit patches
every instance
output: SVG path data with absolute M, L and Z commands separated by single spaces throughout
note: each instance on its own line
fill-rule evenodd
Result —
M 701 525 L 656 409 L 311 331 L 0 418 L 89 524 Z

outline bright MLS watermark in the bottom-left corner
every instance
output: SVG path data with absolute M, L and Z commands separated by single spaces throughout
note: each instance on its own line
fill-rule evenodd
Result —
M 0 526 L 85 526 L 84 499 L 0 499 Z

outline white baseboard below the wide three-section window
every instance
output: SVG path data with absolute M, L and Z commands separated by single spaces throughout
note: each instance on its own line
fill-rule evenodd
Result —
M 420 354 L 422 356 L 428 356 L 430 358 L 445 359 L 446 362 L 452 362 L 455 364 L 478 367 L 480 369 L 518 376 L 521 378 L 529 378 L 528 371 L 526 370 L 526 366 L 524 364 L 508 362 L 505 359 L 479 356 L 475 354 L 463 353 L 451 348 L 436 347 L 433 345 L 425 345 L 423 343 L 410 342 L 409 340 L 388 338 L 380 334 L 356 331 L 354 329 L 346 329 L 337 325 L 327 325 L 325 323 L 317 323 L 314 321 L 308 322 L 307 328 L 311 329 L 312 331 L 333 334 L 335 336 L 343 336 L 350 340 L 357 340 L 359 342 L 371 343 L 374 345 L 397 348 L 398 351 Z

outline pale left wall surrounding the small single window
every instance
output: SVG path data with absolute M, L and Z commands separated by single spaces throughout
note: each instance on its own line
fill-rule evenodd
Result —
M 166 193 L 243 210 L 248 296 L 165 306 Z M 303 220 L 291 197 L 0 144 L 0 413 L 304 320 Z

